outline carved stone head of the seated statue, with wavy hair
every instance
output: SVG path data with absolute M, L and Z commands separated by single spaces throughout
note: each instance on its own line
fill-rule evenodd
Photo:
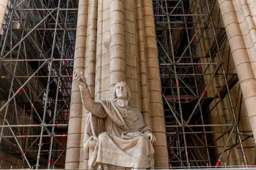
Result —
M 131 91 L 126 82 L 117 82 L 113 91 L 114 99 L 128 99 L 131 98 Z

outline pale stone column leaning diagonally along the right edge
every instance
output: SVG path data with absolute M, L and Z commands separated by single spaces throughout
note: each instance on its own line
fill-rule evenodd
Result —
M 254 58 L 256 56 L 254 41 L 256 40 L 256 32 L 251 24 L 247 24 L 252 21 L 251 19 L 254 19 L 255 23 L 255 14 L 252 13 L 252 16 L 249 15 L 250 11 L 247 8 L 248 4 L 245 3 L 246 1 L 218 0 L 218 2 L 233 55 L 233 61 L 236 66 L 236 72 L 239 77 L 254 140 L 256 140 L 256 79 L 254 66 Z M 253 6 L 253 3 L 250 5 Z M 249 31 L 250 29 L 253 30 Z M 244 34 L 246 32 L 248 34 Z M 250 46 L 250 44 L 252 46 Z

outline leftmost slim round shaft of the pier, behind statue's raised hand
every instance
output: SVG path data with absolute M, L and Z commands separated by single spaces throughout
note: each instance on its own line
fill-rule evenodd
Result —
M 87 18 L 88 0 L 79 0 L 74 57 L 74 71 L 79 74 L 81 71 L 84 72 L 85 69 Z M 79 168 L 82 111 L 83 105 L 79 85 L 73 78 L 65 169 Z

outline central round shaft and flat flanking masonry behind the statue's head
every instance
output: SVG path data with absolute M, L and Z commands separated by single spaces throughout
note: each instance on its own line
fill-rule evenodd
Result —
M 97 37 L 102 42 L 97 42 L 96 100 L 112 100 L 113 85 L 126 81 L 131 104 L 141 105 L 134 7 L 133 0 L 103 0 L 102 33 Z

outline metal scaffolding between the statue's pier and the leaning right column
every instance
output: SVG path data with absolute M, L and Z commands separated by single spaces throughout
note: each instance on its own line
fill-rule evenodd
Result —
M 216 0 L 153 0 L 169 163 L 175 167 L 217 167 L 226 152 L 224 163 L 234 167 L 238 161 L 245 167 L 255 162 L 255 149 L 252 162 L 245 157 L 243 142 L 253 135 L 251 130 L 239 131 L 242 94 L 239 86 L 236 98 L 230 95 L 238 77 L 229 70 L 230 49 L 224 54 L 228 46 L 225 28 L 219 26 L 220 21 L 218 25 L 214 23 L 219 20 L 219 11 L 218 17 L 216 13 L 214 20 L 212 17 L 215 3 Z M 207 48 L 204 56 L 198 53 L 201 42 Z M 207 94 L 210 85 L 216 89 L 214 96 Z M 215 105 L 209 107 L 213 101 Z M 217 107 L 222 124 L 209 124 L 209 114 Z M 211 139 L 213 133 L 219 137 Z M 222 146 L 216 144 L 220 139 L 225 139 Z M 213 155 L 213 148 L 220 148 L 221 152 Z M 237 154 L 242 156 L 238 158 Z

